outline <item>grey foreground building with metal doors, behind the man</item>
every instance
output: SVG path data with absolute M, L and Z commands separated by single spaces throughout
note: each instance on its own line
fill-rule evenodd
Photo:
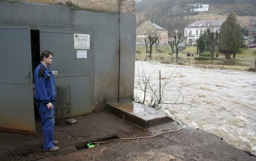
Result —
M 56 117 L 133 98 L 134 0 L 0 0 L 0 129 L 35 133 L 33 72 L 53 55 Z

